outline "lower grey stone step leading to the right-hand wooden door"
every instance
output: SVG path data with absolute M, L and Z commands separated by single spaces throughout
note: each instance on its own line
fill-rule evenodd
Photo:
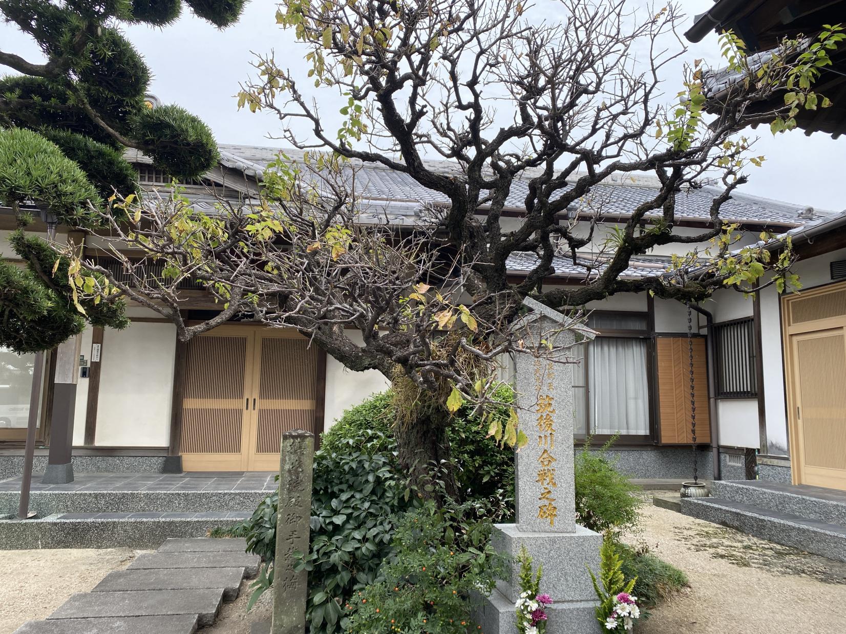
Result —
M 846 561 L 846 527 L 715 498 L 682 498 L 682 512 L 741 533 Z

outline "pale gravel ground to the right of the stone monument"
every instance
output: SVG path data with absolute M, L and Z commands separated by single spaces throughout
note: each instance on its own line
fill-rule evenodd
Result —
M 690 588 L 659 605 L 640 634 L 846 631 L 846 564 L 649 503 L 642 517 L 629 542 L 686 572 Z

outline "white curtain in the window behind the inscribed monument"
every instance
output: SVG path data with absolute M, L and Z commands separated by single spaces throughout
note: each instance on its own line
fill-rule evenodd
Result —
M 596 337 L 587 347 L 591 432 L 648 435 L 646 341 Z

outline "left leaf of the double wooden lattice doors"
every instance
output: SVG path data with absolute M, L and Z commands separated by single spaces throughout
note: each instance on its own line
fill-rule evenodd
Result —
M 185 471 L 246 467 L 255 331 L 222 326 L 188 342 L 182 403 Z

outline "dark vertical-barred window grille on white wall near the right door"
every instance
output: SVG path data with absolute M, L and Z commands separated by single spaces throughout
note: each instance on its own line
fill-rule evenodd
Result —
M 751 317 L 714 326 L 717 398 L 758 396 L 755 374 L 755 320 Z

